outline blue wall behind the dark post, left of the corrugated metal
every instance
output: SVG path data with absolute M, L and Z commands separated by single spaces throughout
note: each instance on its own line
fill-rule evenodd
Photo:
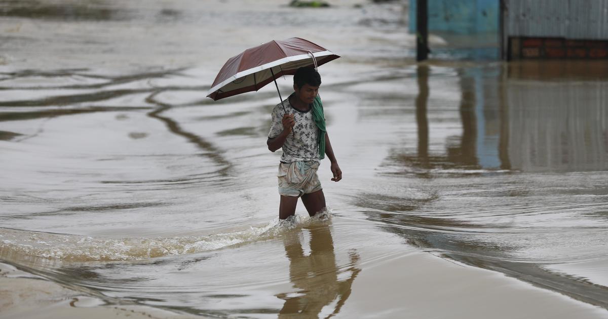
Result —
M 499 0 L 428 0 L 429 32 L 465 35 L 499 32 Z M 409 30 L 416 30 L 416 0 L 410 0 Z

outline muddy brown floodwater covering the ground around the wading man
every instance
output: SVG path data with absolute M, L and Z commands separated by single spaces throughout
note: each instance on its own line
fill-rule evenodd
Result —
M 399 2 L 283 2 L 0 2 L 3 267 L 169 317 L 608 317 L 606 61 L 416 64 Z M 280 222 L 275 87 L 206 95 L 292 36 L 342 56 L 344 176 Z

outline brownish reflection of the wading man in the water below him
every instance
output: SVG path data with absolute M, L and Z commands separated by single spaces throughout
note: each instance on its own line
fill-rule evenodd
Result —
M 338 281 L 339 269 L 336 266 L 334 243 L 328 225 L 307 228 L 310 232 L 310 254 L 304 255 L 300 232 L 286 236 L 285 253 L 289 258 L 289 277 L 298 292 L 282 293 L 278 298 L 285 300 L 279 318 L 303 317 L 317 318 L 323 307 L 339 298 L 332 315 L 337 314 L 351 293 L 354 278 L 361 272 L 356 267 L 359 255 L 350 253 L 350 264 L 342 272 L 350 272 L 347 280 Z M 331 317 L 328 316 L 328 317 Z

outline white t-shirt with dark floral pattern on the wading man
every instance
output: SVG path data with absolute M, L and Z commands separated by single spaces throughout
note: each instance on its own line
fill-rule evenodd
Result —
M 291 133 L 287 136 L 283 143 L 283 155 L 281 162 L 291 163 L 299 160 L 314 160 L 319 162 L 319 128 L 313 119 L 312 108 L 308 111 L 300 111 L 294 108 L 289 103 L 289 98 L 283 101 L 287 114 L 295 114 L 295 125 Z M 272 109 L 272 124 L 268 137 L 270 139 L 277 137 L 283 131 L 283 105 L 279 103 Z

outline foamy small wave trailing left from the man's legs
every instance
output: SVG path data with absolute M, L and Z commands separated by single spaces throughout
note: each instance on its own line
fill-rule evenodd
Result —
M 0 256 L 27 255 L 65 261 L 126 261 L 170 255 L 209 252 L 256 241 L 280 238 L 284 233 L 306 225 L 326 222 L 331 211 L 313 218 L 291 216 L 274 219 L 267 225 L 207 236 L 170 238 L 102 239 L 91 236 L 36 233 L 4 229 L 0 232 Z

